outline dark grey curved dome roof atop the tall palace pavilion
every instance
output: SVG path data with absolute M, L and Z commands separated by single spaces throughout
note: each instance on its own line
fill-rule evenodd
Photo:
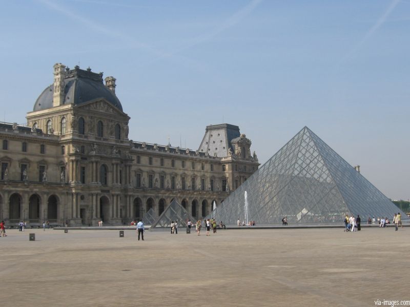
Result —
M 93 73 L 91 69 L 81 70 L 76 66 L 73 70 L 66 69 L 63 104 L 82 104 L 95 99 L 105 99 L 122 111 L 122 105 L 103 82 L 103 73 Z M 115 80 L 115 79 L 114 79 Z M 115 88 L 115 84 L 114 84 Z M 54 85 L 51 84 L 38 96 L 33 111 L 40 111 L 53 106 Z

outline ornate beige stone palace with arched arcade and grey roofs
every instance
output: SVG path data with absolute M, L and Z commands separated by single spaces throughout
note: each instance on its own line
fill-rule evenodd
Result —
M 161 214 L 173 200 L 200 218 L 258 169 L 238 126 L 207 126 L 197 150 L 132 141 L 114 77 L 61 63 L 53 77 L 27 125 L 0 123 L 7 225 L 128 224 L 150 209 Z

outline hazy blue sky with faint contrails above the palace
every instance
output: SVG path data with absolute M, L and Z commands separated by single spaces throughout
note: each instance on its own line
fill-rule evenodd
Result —
M 197 149 L 223 121 L 264 163 L 307 125 L 410 198 L 410 0 L 0 5 L 2 121 L 25 123 L 54 63 L 79 64 L 117 78 L 130 139 Z

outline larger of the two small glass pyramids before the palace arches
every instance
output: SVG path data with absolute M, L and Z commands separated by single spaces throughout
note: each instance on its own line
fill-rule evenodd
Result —
M 155 227 L 169 227 L 172 221 L 177 221 L 179 227 L 187 226 L 188 221 L 195 223 L 195 219 L 188 213 L 188 211 L 176 200 L 173 200 L 156 221 L 152 223 L 150 229 Z

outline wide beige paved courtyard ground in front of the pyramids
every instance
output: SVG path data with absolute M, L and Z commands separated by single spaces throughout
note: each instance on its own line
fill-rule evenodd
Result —
M 410 300 L 409 228 L 8 230 L 5 306 L 375 306 Z M 36 241 L 29 242 L 29 232 Z

